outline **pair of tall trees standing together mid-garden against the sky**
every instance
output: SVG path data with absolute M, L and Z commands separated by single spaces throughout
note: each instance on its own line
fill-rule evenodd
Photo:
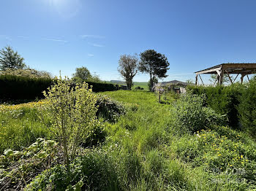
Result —
M 170 65 L 165 55 L 155 50 L 141 52 L 140 58 L 137 54 L 121 55 L 118 63 L 118 71 L 127 83 L 128 90 L 132 89 L 133 78 L 138 74 L 138 71 L 149 74 L 148 87 L 149 90 L 152 90 L 158 79 L 167 77 L 166 73 Z

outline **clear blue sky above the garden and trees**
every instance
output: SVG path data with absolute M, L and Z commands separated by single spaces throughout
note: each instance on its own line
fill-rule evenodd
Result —
M 121 79 L 120 55 L 154 49 L 170 62 L 164 80 L 185 81 L 219 63 L 256 62 L 255 8 L 253 0 L 1 0 L 0 47 L 34 69 L 71 77 L 86 66 L 103 80 Z

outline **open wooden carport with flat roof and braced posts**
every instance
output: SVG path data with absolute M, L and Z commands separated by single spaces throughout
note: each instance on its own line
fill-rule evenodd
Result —
M 235 82 L 238 75 L 241 74 L 241 83 L 243 83 L 245 76 L 249 80 L 249 74 L 256 74 L 256 63 L 222 63 L 208 69 L 196 71 L 195 74 L 195 85 L 199 84 L 198 77 L 200 77 L 200 74 L 217 74 L 214 85 L 216 82 L 218 85 L 222 85 L 224 74 L 227 74 L 231 83 Z M 236 78 L 232 80 L 230 74 L 236 74 Z M 201 77 L 200 80 L 203 83 L 203 79 Z

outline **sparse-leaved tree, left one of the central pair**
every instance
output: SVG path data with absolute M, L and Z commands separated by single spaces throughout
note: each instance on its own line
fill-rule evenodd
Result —
M 138 56 L 121 55 L 118 63 L 118 71 L 127 83 L 128 90 L 131 90 L 132 79 L 138 72 Z

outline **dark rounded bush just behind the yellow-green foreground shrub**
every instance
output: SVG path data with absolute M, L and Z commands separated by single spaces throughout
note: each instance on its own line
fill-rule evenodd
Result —
M 96 105 L 98 108 L 97 117 L 102 117 L 110 122 L 115 121 L 117 117 L 125 113 L 124 106 L 118 101 L 113 101 L 107 95 L 97 95 Z

